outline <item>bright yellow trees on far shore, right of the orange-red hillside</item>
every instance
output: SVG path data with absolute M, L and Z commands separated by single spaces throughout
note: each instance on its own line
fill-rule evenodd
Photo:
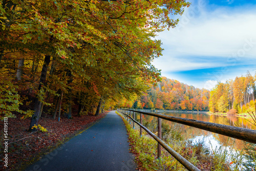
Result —
M 255 111 L 255 80 L 249 71 L 245 76 L 218 82 L 210 92 L 211 112 L 247 113 Z

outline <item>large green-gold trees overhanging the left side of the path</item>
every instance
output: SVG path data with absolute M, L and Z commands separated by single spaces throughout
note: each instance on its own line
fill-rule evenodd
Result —
M 68 117 L 74 101 L 88 111 L 100 99 L 140 94 L 160 79 L 151 65 L 162 51 L 156 33 L 175 27 L 178 20 L 170 15 L 187 6 L 166 0 L 1 1 L 0 80 L 7 93 L 1 117 L 15 111 L 31 117 L 33 110 L 34 130 L 44 106 L 61 93 Z M 22 102 L 30 103 L 24 111 Z

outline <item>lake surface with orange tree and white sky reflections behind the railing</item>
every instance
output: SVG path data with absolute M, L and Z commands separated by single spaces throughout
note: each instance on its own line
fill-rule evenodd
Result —
M 164 115 L 169 116 L 176 116 L 181 118 L 187 119 L 195 119 L 200 121 L 212 122 L 212 123 L 219 123 L 231 126 L 239 126 L 245 127 L 247 129 L 251 129 L 250 122 L 252 119 L 247 117 L 246 119 L 243 117 L 236 117 L 236 116 L 217 116 L 217 115 L 208 115 L 206 113 L 182 113 L 182 112 L 158 112 Z M 136 115 L 136 119 L 139 120 L 139 115 Z M 154 116 L 143 115 L 143 119 L 148 122 L 157 121 L 157 118 Z M 249 121 L 248 121 L 249 120 Z M 179 123 L 171 123 L 170 121 L 162 120 L 162 122 L 167 124 L 179 124 Z M 211 143 L 212 147 L 225 145 L 225 146 L 233 146 L 234 149 L 242 149 L 243 148 L 243 141 L 234 139 L 231 137 L 227 137 L 224 135 L 211 133 L 208 131 L 200 130 L 195 127 L 182 125 L 184 129 L 184 133 L 187 133 L 188 138 L 197 140 L 199 138 L 204 138 L 206 141 L 206 145 Z M 209 146 L 210 147 L 210 146 Z

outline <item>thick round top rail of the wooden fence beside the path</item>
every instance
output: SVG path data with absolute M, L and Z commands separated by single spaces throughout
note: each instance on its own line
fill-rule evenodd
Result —
M 225 135 L 228 137 L 232 137 L 232 138 L 236 138 L 236 139 L 240 139 L 243 141 L 247 141 L 247 142 L 256 144 L 256 131 L 255 130 L 245 129 L 245 128 L 236 127 L 236 126 L 229 126 L 229 125 L 224 125 L 224 124 L 218 124 L 218 123 L 199 121 L 199 120 L 194 120 L 194 119 L 186 119 L 186 118 L 180 118 L 180 117 L 175 117 L 175 116 L 167 116 L 167 115 L 157 114 L 157 113 L 147 113 L 147 112 L 141 112 L 141 111 L 127 110 L 127 109 L 122 109 L 122 110 L 132 111 L 132 112 L 137 112 L 140 114 L 159 117 L 159 118 L 169 120 L 172 122 L 197 127 L 198 129 L 201 129 L 201 130 L 218 133 L 221 135 Z

